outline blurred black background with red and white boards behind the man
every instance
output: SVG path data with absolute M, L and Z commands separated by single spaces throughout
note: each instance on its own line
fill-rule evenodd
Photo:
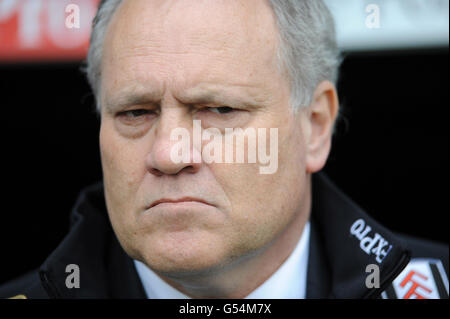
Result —
M 82 31 L 64 28 L 64 5 L 73 1 L 89 22 L 98 0 L 47 0 L 36 15 L 40 33 L 23 38 L 23 30 L 34 30 L 21 29 L 28 21 L 20 18 L 32 2 L 0 0 L 0 284 L 46 259 L 68 232 L 79 191 L 102 178 L 100 123 L 81 64 L 57 62 L 79 61 L 87 47 L 88 23 Z M 398 7 L 399 17 L 410 12 L 410 19 L 401 24 L 386 15 L 378 30 L 364 26 L 368 1 L 345 2 L 354 20 L 344 2 L 327 2 L 338 18 L 338 40 L 353 49 L 341 66 L 342 114 L 325 171 L 388 228 L 448 244 L 448 1 Z M 394 3 L 375 2 L 381 12 Z M 447 13 L 439 22 L 442 6 Z M 50 16 L 61 18 L 60 28 L 48 27 Z M 414 29 L 412 21 L 425 22 Z M 393 49 L 412 39 L 405 30 L 428 33 L 412 43 L 416 49 L 406 42 Z

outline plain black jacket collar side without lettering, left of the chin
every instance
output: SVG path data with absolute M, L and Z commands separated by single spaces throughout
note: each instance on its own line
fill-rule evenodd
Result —
M 133 261 L 112 230 L 102 183 L 81 192 L 70 224 L 69 234 L 39 270 L 50 297 L 146 298 Z M 80 288 L 66 287 L 69 264 L 79 267 Z

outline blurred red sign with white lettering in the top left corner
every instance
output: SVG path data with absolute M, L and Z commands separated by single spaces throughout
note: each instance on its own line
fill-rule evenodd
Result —
M 100 0 L 0 0 L 0 62 L 81 60 Z

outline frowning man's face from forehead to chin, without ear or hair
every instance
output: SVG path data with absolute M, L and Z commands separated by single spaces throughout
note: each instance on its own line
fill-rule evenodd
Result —
M 198 273 L 244 260 L 305 214 L 303 113 L 288 104 L 277 41 L 265 1 L 133 0 L 116 12 L 104 44 L 100 147 L 108 213 L 131 257 Z M 175 163 L 170 134 L 192 134 L 193 120 L 221 132 L 266 128 L 268 146 L 277 128 L 278 169 Z M 183 198 L 193 201 L 151 207 Z

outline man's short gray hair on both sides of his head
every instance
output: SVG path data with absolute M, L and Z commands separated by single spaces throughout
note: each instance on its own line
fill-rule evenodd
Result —
M 294 110 L 309 105 L 316 86 L 324 80 L 336 83 L 340 63 L 333 17 L 323 0 L 268 0 L 280 37 L 280 71 L 290 80 Z M 92 23 L 86 74 L 100 111 L 103 41 L 108 24 L 122 0 L 102 0 Z

